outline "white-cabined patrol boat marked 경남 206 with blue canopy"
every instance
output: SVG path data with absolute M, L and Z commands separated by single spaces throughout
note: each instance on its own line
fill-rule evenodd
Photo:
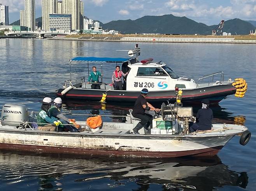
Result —
M 200 77 L 197 80 L 189 77 L 181 77 L 170 66 L 153 59 L 138 59 L 140 48 L 129 50 L 132 58 L 99 58 L 99 57 L 74 57 L 70 59 L 70 79 L 65 81 L 63 87 L 58 89 L 57 95 L 64 99 L 82 99 L 102 102 L 135 102 L 143 88 L 149 90 L 147 100 L 149 102 L 175 102 L 175 89 L 182 89 L 183 102 L 200 102 L 207 98 L 211 103 L 218 103 L 229 95 L 242 98 L 247 91 L 247 83 L 242 78 L 235 80 L 224 79 L 224 72 L 215 72 Z M 122 64 L 122 71 L 128 72 L 123 90 L 115 90 L 111 78 L 101 79 L 100 89 L 91 89 L 93 83 L 88 84 L 88 76 L 82 76 L 72 81 L 72 62 L 85 62 L 89 64 L 106 63 Z M 114 67 L 113 67 L 114 68 Z M 103 98 L 103 100 L 102 100 Z

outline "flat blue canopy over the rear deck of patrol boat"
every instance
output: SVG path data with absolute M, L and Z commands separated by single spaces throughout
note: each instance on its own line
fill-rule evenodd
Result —
M 122 63 L 129 59 L 124 58 L 99 58 L 99 57 L 74 57 L 70 61 L 76 62 L 113 62 L 113 63 Z

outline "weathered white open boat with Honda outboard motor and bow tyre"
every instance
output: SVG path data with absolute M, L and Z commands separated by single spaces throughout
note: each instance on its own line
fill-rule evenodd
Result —
M 103 122 L 92 129 L 85 121 L 77 121 L 85 131 L 50 132 L 36 128 L 33 112 L 29 113 L 25 105 L 6 103 L 2 108 L 0 150 L 169 158 L 216 155 L 234 136 L 241 136 L 241 145 L 251 137 L 247 127 L 234 124 L 213 124 L 210 131 L 191 133 L 193 108 L 177 103 L 162 104 L 151 132 L 141 129 L 140 134 L 133 134 L 139 120 L 129 112 L 125 123 Z

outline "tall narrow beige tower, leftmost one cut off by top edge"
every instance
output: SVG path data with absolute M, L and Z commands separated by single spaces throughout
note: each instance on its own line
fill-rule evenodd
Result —
M 35 0 L 25 0 L 25 26 L 35 30 Z

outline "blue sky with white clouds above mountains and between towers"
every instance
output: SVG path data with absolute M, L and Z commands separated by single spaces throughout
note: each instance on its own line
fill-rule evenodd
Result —
M 42 14 L 42 1 L 36 2 L 36 18 Z M 207 25 L 222 19 L 256 20 L 256 0 L 83 0 L 84 15 L 103 23 L 138 19 L 144 15 L 186 16 Z M 9 5 L 9 22 L 19 20 L 25 0 L 0 0 Z

